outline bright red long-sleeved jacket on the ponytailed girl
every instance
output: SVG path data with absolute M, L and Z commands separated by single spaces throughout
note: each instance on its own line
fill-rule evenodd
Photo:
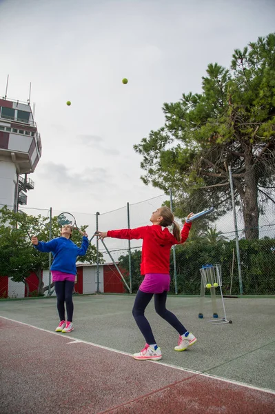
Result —
M 122 230 L 109 230 L 108 237 L 115 239 L 143 239 L 141 251 L 141 275 L 146 273 L 170 273 L 170 250 L 174 244 L 182 244 L 189 235 L 192 223 L 185 223 L 181 230 L 181 242 L 175 239 L 167 227 L 159 224 Z

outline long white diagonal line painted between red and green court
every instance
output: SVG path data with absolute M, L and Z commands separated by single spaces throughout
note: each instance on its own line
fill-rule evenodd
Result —
M 51 333 L 52 335 L 57 335 L 59 338 L 66 338 L 65 335 L 60 335 L 59 332 L 48 331 L 48 329 L 38 328 L 37 326 L 26 324 L 25 322 L 19 322 L 17 320 L 10 319 L 9 317 L 5 317 L 5 316 L 1 316 L 1 315 L 0 315 L 0 317 L 2 319 L 6 319 L 6 320 L 11 321 L 11 322 L 16 322 L 17 324 L 28 326 L 29 328 L 34 328 L 34 329 L 38 329 L 39 331 L 43 331 L 43 332 L 46 332 L 46 333 Z M 72 341 L 67 342 L 67 344 L 83 343 L 83 344 L 88 344 L 88 345 L 95 346 L 96 348 L 105 349 L 106 351 L 112 351 L 112 352 L 115 352 L 115 353 L 119 353 L 121 355 L 127 355 L 127 356 L 132 357 L 131 353 L 119 351 L 119 350 L 113 349 L 113 348 L 108 348 L 108 346 L 94 344 L 93 342 L 83 341 L 83 339 L 75 338 L 75 337 L 72 337 L 72 336 L 70 336 L 70 337 L 68 336 L 67 339 L 72 339 Z M 234 384 L 234 385 L 238 385 L 238 386 L 244 386 L 245 388 L 250 388 L 252 390 L 261 391 L 261 392 L 264 392 L 264 393 L 269 393 L 269 394 L 275 395 L 275 391 L 270 390 L 269 388 L 260 388 L 258 386 L 253 386 L 253 385 L 246 384 L 245 382 L 227 380 L 226 378 L 218 377 L 217 375 L 205 374 L 201 371 L 194 371 L 194 370 L 187 369 L 187 368 L 181 368 L 181 366 L 176 366 L 176 365 L 172 365 L 172 364 L 165 364 L 165 362 L 160 362 L 160 361 L 147 361 L 147 362 L 152 362 L 153 364 L 167 366 L 168 368 L 174 368 L 174 369 L 177 369 L 179 371 L 184 371 L 185 373 L 190 373 L 190 374 L 198 375 L 198 376 L 201 376 L 201 377 L 207 377 L 207 378 L 210 378 L 211 380 L 223 381 L 223 382 L 227 382 L 227 384 Z

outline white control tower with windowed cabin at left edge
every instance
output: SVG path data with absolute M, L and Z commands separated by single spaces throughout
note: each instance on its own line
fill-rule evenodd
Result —
M 41 139 L 30 103 L 0 99 L 0 208 L 27 204 L 28 178 L 41 157 Z

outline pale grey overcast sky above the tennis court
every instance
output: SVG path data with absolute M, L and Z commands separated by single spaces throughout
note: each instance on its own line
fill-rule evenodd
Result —
M 273 0 L 0 0 L 0 95 L 7 75 L 11 99 L 32 83 L 43 146 L 28 206 L 104 213 L 161 195 L 133 145 L 274 16 Z

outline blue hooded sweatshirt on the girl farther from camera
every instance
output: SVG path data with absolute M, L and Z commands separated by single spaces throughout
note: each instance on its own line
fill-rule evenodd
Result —
M 57 237 L 50 242 L 39 242 L 34 246 L 43 253 L 50 253 L 54 257 L 50 270 L 59 270 L 59 272 L 77 274 L 77 256 L 85 256 L 89 246 L 88 237 L 83 236 L 81 247 L 78 247 L 72 240 L 65 237 Z

